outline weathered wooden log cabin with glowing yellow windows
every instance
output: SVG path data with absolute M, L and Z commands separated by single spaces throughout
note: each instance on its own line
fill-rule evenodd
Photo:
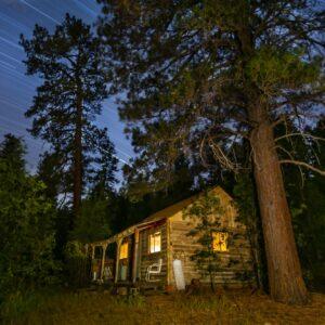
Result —
M 252 249 L 247 229 L 238 221 L 234 202 L 225 191 L 217 186 L 209 193 L 219 197 L 223 210 L 220 232 L 212 234 L 212 249 L 220 261 L 218 272 L 213 273 L 214 284 L 233 288 L 251 285 Z M 93 280 L 116 284 L 155 283 L 176 288 L 174 261 L 178 260 L 185 285 L 193 280 L 209 283 L 210 278 L 193 261 L 193 255 L 202 247 L 197 238 L 188 236 L 195 221 L 184 217 L 184 210 L 202 195 L 193 195 L 108 239 L 90 244 Z

